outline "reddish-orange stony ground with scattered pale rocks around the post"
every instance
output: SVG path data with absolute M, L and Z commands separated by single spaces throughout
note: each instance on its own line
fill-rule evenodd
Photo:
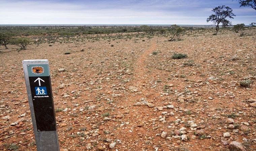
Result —
M 25 59 L 49 60 L 61 151 L 256 150 L 256 29 L 213 33 L 1 46 L 0 150 L 36 150 Z

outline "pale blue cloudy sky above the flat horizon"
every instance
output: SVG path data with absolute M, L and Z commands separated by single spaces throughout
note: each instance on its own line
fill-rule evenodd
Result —
M 0 0 L 0 24 L 212 24 L 225 5 L 232 24 L 256 22 L 256 10 L 236 0 Z

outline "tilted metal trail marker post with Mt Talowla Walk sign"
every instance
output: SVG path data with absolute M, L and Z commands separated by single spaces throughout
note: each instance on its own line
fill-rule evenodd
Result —
M 49 61 L 23 60 L 37 151 L 60 151 Z

